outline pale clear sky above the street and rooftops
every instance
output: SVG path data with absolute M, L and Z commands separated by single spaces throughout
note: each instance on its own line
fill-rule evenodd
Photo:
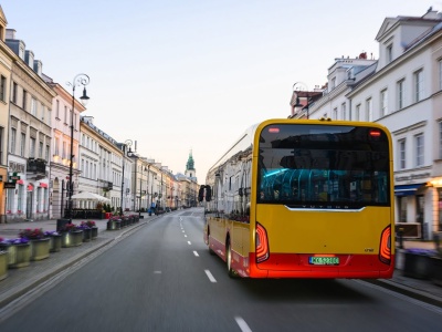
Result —
M 386 18 L 442 11 L 442 0 L 0 4 L 45 75 L 67 91 L 75 75 L 90 76 L 83 115 L 175 174 L 192 153 L 199 184 L 248 127 L 290 115 L 296 82 L 312 91 L 337 58 L 378 59 Z

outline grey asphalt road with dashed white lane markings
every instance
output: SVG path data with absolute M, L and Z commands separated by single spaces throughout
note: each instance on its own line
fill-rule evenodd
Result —
M 30 294 L 0 331 L 439 331 L 442 310 L 359 280 L 230 279 L 202 210 L 167 214 Z

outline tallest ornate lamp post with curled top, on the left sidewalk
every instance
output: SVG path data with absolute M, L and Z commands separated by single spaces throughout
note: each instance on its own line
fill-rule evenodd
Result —
M 74 113 L 75 113 L 75 87 L 83 85 L 83 95 L 80 97 L 83 106 L 86 106 L 90 97 L 86 95 L 86 85 L 90 84 L 90 76 L 86 74 L 77 74 L 74 80 L 67 82 L 67 85 L 72 85 L 72 112 L 71 112 L 71 154 L 70 154 L 70 174 L 69 174 L 69 200 L 67 200 L 67 214 L 69 214 L 69 224 L 72 224 L 72 194 L 74 191 L 73 188 L 73 159 L 74 159 Z

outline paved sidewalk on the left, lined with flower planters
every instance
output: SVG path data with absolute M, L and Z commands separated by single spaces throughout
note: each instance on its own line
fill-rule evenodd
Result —
M 95 240 L 83 242 L 78 247 L 62 248 L 59 252 L 51 252 L 48 259 L 31 261 L 31 264 L 25 268 L 9 269 L 8 277 L 0 281 L 0 310 L 14 299 L 35 289 L 44 281 L 72 267 L 83 258 L 156 218 L 156 216 L 148 216 L 148 214 L 141 214 L 141 216 L 144 218 L 140 218 L 139 222 L 119 230 L 106 230 L 106 219 L 93 219 L 98 227 L 98 237 Z M 82 220 L 74 219 L 73 222 L 80 224 Z M 25 228 L 42 228 L 44 231 L 56 230 L 56 220 L 0 224 L 0 237 L 18 238 L 19 231 Z

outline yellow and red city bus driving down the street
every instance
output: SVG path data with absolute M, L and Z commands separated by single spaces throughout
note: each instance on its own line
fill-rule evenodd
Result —
M 391 278 L 391 149 L 369 122 L 250 127 L 207 175 L 209 251 L 231 277 Z

